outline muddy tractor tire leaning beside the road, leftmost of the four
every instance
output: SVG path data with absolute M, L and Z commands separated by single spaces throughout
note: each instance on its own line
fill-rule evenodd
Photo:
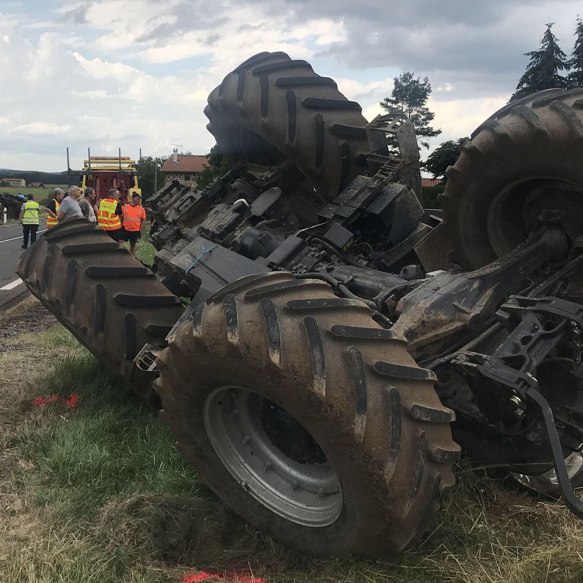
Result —
M 18 275 L 41 303 L 107 368 L 150 405 L 134 358 L 165 337 L 184 308 L 154 274 L 85 218 L 66 220 L 24 252 Z

